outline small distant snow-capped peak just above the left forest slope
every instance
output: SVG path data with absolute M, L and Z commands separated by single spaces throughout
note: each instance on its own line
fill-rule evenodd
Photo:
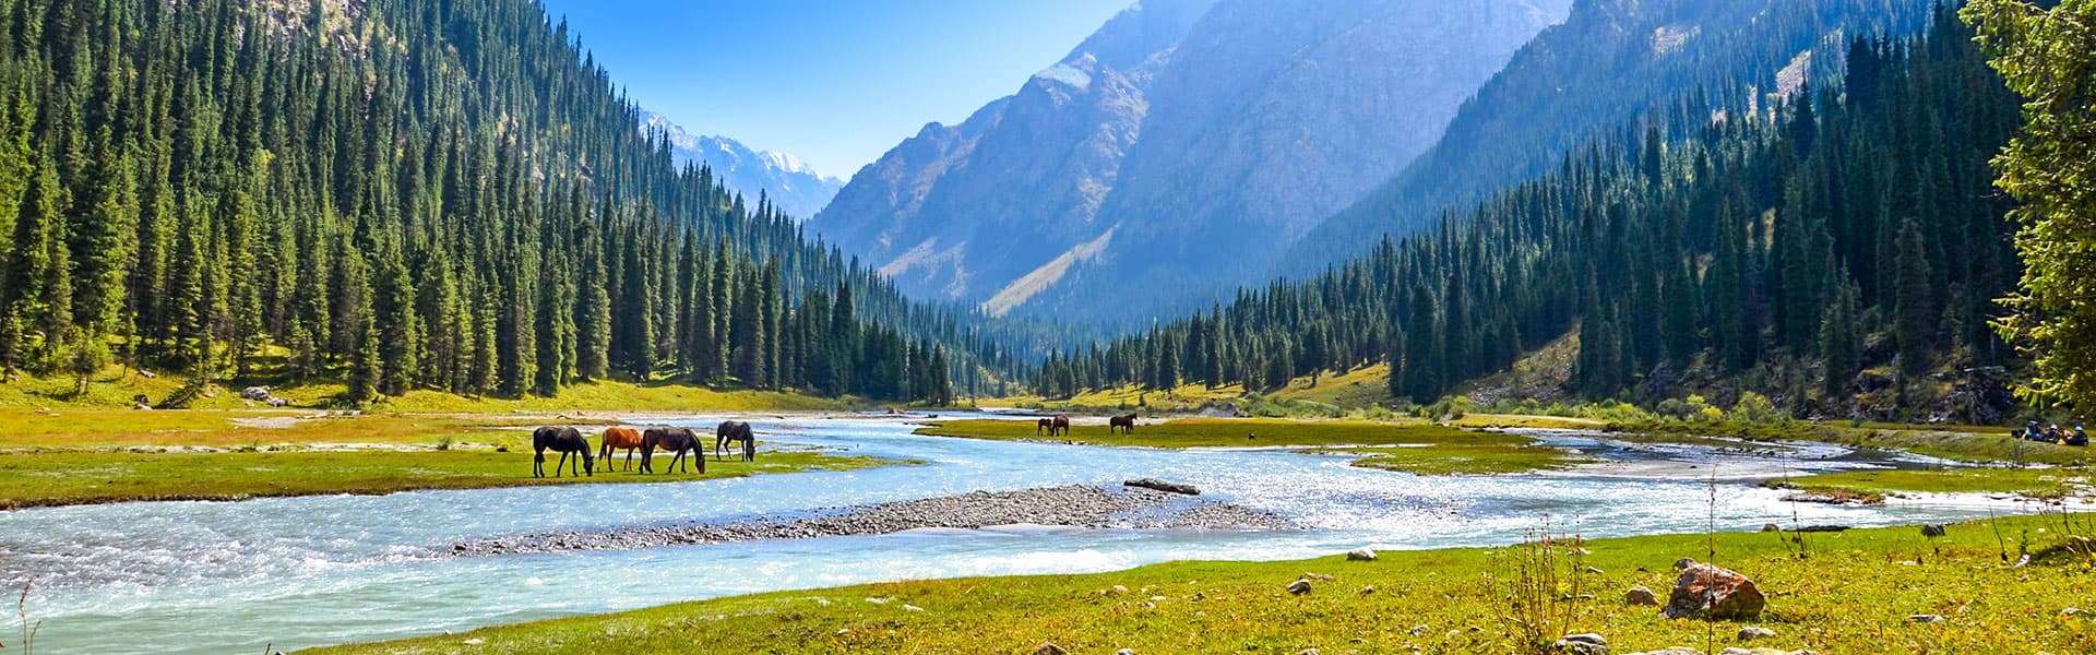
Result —
M 790 153 L 752 149 L 727 136 L 692 134 L 654 111 L 641 111 L 641 130 L 669 134 L 677 166 L 706 162 L 713 166 L 713 176 L 742 193 L 750 206 L 765 193 L 771 204 L 801 220 L 815 216 L 845 187 L 845 181 L 824 176 Z

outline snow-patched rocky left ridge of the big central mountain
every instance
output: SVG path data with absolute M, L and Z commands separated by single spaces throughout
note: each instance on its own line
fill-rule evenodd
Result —
M 1211 2 L 1123 10 L 1019 92 L 960 126 L 924 126 L 811 225 L 908 292 L 968 302 L 1094 239 L 1144 86 Z

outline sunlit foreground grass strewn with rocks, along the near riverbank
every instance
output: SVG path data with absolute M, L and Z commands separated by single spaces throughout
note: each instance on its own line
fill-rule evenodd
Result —
M 1859 529 L 1807 535 L 1805 556 L 1777 533 L 1587 542 L 1591 556 L 1559 569 L 1570 577 L 1597 567 L 1601 573 L 1582 575 L 1582 592 L 1599 598 L 1566 600 L 1568 617 L 1551 632 L 1599 632 L 1612 651 L 1715 653 L 1738 645 L 1740 626 L 1765 626 L 1777 636 L 1750 647 L 2092 653 L 2096 619 L 2060 613 L 2096 605 L 2088 592 L 2096 558 L 2056 546 L 2067 521 L 2079 533 L 2092 529 L 2088 516 L 2058 514 L 1953 525 L 1941 540 L 1922 540 L 1912 527 Z M 2004 548 L 2014 558 L 2021 546 L 2046 552 L 2039 565 L 2006 567 Z M 1515 577 L 1509 552 L 1417 550 L 1383 552 L 1375 563 L 1337 556 L 1167 563 L 1094 575 L 868 584 L 312 653 L 1031 653 L 1042 642 L 1071 653 L 1518 653 L 1526 645 L 1507 619 L 1505 598 Z M 1656 607 L 1618 600 L 1631 586 L 1664 598 L 1675 577 L 1671 563 L 1681 556 L 1750 575 L 1769 594 L 1763 617 L 1675 621 Z M 1283 592 L 1306 571 L 1335 579 L 1314 582 L 1308 596 Z M 1375 592 L 1362 592 L 1369 586 Z M 1905 617 L 1914 613 L 1945 621 L 1909 624 Z M 1413 626 L 1425 628 L 1415 634 Z

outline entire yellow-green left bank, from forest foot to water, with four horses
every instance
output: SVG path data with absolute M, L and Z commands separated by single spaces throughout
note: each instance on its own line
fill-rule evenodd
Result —
M 572 483 L 687 481 L 612 470 L 534 479 L 530 428 L 610 416 L 329 414 L 252 409 L 0 409 L 0 510 L 132 500 L 392 493 Z M 593 437 L 595 441 L 595 437 Z M 547 470 L 558 462 L 551 456 Z M 757 464 L 708 462 L 708 479 L 895 464 L 767 451 Z

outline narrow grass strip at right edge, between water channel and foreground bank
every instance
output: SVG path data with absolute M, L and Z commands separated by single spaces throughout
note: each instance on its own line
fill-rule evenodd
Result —
M 1847 493 L 1857 500 L 1882 500 L 1897 493 L 2021 493 L 2029 498 L 2062 498 L 2088 487 L 2090 474 L 2058 468 L 1943 468 L 1943 470 L 1844 470 L 1767 481 L 1767 487 L 1813 493 Z

